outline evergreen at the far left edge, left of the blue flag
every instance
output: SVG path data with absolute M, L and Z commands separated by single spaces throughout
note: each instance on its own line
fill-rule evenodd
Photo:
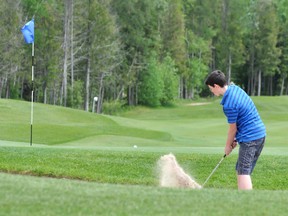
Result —
M 24 42 L 20 33 L 22 9 L 19 6 L 19 1 L 0 2 L 0 98 L 22 97 L 18 89 L 22 88 L 25 79 L 21 67 Z

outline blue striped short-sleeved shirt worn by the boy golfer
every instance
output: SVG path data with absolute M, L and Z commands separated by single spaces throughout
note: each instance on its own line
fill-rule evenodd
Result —
M 263 124 L 252 99 L 236 85 L 229 85 L 221 105 L 229 124 L 236 123 L 236 139 L 239 143 L 250 142 L 266 136 Z

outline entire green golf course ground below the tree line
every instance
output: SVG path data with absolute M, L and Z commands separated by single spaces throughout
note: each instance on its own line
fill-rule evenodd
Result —
M 224 154 L 219 98 L 95 114 L 0 99 L 0 215 L 286 215 L 288 97 L 252 97 L 267 137 L 238 191 L 238 147 L 201 190 L 162 188 L 157 161 L 173 153 L 203 184 Z

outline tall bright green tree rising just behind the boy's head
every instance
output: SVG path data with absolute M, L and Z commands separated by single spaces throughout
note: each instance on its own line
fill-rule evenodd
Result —
M 188 98 L 194 98 L 201 92 L 207 73 L 215 68 L 212 39 L 216 35 L 217 15 L 214 10 L 217 1 L 183 2 L 186 15 L 186 95 Z

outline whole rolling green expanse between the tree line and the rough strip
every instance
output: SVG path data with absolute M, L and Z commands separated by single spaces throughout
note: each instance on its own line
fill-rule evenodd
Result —
M 287 146 L 288 97 L 254 97 L 267 145 Z M 68 146 L 221 147 L 227 123 L 220 100 L 137 107 L 118 116 L 34 104 L 33 143 Z M 30 103 L 0 100 L 0 140 L 29 143 Z

